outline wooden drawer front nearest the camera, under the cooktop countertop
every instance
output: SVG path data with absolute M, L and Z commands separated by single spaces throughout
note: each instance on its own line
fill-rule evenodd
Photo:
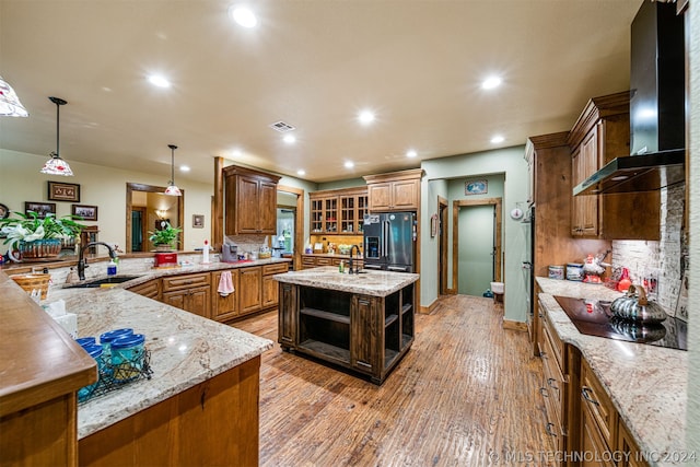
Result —
M 590 410 L 603 440 L 608 446 L 615 446 L 617 442 L 617 411 L 610 397 L 585 361 L 581 371 L 581 404 L 584 409 Z

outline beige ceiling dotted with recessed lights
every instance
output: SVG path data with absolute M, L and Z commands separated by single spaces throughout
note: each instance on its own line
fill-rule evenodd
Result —
M 524 144 L 629 86 L 641 1 L 258 0 L 246 30 L 226 14 L 235 0 L 0 0 L 0 74 L 30 112 L 0 117 L 0 148 L 56 149 L 48 96 L 68 101 L 63 159 L 163 184 L 168 143 L 192 167 L 176 180 L 206 183 L 213 156 L 327 182 L 493 149 L 493 133 Z M 492 73 L 503 85 L 485 92 Z M 374 125 L 358 124 L 362 108 Z M 268 127 L 278 120 L 295 144 Z

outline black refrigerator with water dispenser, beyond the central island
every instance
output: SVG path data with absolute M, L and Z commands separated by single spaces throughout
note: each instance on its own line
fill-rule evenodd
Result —
M 365 214 L 364 268 L 413 272 L 416 229 L 415 212 Z

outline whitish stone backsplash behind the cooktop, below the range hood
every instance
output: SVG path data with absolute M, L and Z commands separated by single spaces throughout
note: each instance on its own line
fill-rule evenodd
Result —
M 685 185 L 664 188 L 661 191 L 661 240 L 614 241 L 612 269 L 622 267 L 630 270 L 632 281 L 642 283 L 644 279 L 657 280 L 657 294 L 653 296 L 670 316 L 688 320 L 684 306 L 678 306 L 679 297 L 687 296 L 684 270 L 687 269 L 687 237 L 684 231 Z M 640 209 L 640 215 L 644 215 Z M 685 282 L 687 284 L 687 281 Z M 682 297 L 681 297 L 682 300 Z M 682 304 L 682 302 L 681 302 Z M 679 313 L 676 313 L 676 308 Z

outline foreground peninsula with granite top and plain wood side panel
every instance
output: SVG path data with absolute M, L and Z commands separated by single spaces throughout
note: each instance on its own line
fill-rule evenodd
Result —
M 78 407 L 80 465 L 258 464 L 260 354 L 271 341 L 121 288 L 55 289 L 57 300 L 78 315 L 79 336 L 129 327 L 151 352 L 150 380 Z

